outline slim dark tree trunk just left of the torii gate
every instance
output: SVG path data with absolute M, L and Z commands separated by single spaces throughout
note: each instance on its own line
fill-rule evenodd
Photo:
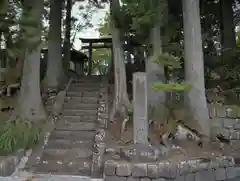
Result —
M 67 0 L 66 7 L 66 18 L 65 18 L 65 37 L 64 37 L 64 60 L 63 68 L 68 71 L 69 61 L 71 60 L 71 16 L 72 16 L 72 0 Z

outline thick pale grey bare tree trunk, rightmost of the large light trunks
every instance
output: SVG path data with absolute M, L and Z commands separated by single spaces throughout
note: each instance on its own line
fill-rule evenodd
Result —
M 205 136 L 210 135 L 210 122 L 205 96 L 202 35 L 199 0 L 182 0 L 184 21 L 185 81 L 192 86 L 186 103 L 193 119 L 199 122 Z

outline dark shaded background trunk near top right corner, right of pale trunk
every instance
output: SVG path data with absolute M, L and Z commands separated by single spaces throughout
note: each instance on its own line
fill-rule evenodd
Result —
M 232 0 L 220 0 L 222 21 L 222 45 L 225 50 L 236 48 Z

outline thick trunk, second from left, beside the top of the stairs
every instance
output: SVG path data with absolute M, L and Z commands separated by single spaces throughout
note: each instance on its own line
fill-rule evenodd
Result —
M 43 82 L 47 87 L 58 87 L 63 74 L 61 39 L 62 2 L 60 0 L 50 0 L 50 8 L 48 62 Z

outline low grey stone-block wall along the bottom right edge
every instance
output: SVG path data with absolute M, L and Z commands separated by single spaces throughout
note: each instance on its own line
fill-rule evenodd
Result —
M 239 176 L 238 170 L 231 157 L 175 164 L 168 161 L 129 163 L 108 160 L 104 165 L 104 181 L 227 181 Z

